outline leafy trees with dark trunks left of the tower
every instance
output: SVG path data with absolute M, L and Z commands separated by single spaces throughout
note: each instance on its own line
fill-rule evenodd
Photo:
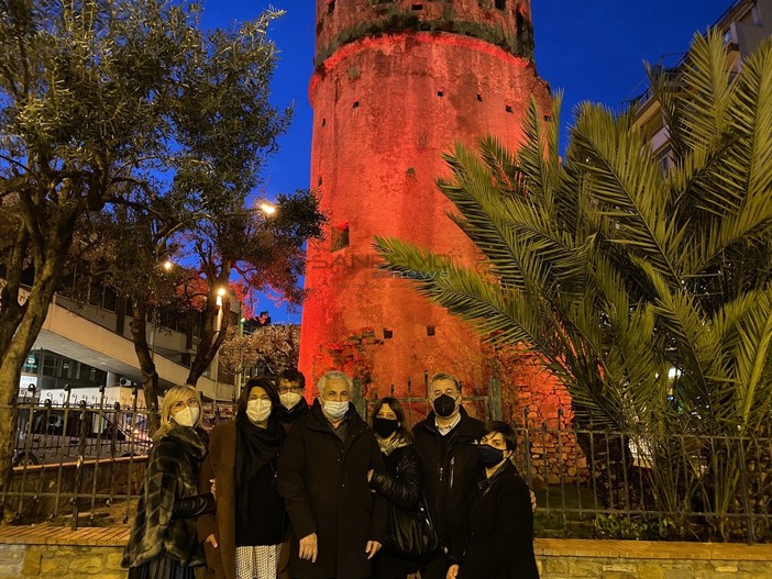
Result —
M 269 223 L 247 205 L 290 120 L 269 102 L 267 27 L 280 13 L 208 31 L 186 0 L 0 0 L 3 402 L 68 257 L 132 304 L 145 378 L 155 374 L 146 310 L 173 299 L 159 264 L 180 247 L 203 256 L 192 269 L 210 286 L 198 372 L 224 339 L 214 285 L 232 269 L 299 299 L 300 246 L 322 219 L 316 199 L 284 196 L 286 214 Z M 19 303 L 24 268 L 35 277 Z

